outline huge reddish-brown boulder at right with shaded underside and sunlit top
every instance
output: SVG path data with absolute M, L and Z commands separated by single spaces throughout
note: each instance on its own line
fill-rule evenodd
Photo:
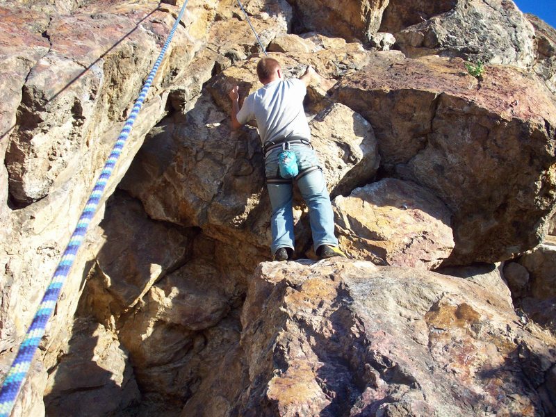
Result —
M 556 105 L 536 77 L 491 66 L 479 83 L 459 59 L 377 52 L 333 97 L 373 125 L 387 172 L 452 211 L 450 262 L 502 261 L 540 243 L 556 195 Z

